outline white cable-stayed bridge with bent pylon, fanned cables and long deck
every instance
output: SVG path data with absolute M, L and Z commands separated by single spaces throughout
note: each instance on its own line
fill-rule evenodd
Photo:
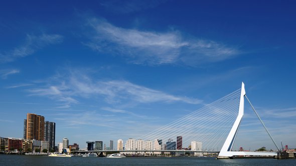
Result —
M 263 121 L 247 98 L 244 83 L 242 83 L 241 88 L 192 113 L 150 133 L 141 135 L 136 139 L 128 139 L 124 149 L 122 148 L 122 141 L 121 143 L 118 142 L 120 147 L 117 147 L 117 150 L 90 150 L 84 152 L 190 151 L 219 153 L 218 157 L 220 158 L 235 155 L 277 155 L 277 152 L 232 151 L 232 146 L 244 115 L 245 99 L 250 103 L 259 121 L 279 150 Z M 174 138 L 177 139 L 174 141 Z

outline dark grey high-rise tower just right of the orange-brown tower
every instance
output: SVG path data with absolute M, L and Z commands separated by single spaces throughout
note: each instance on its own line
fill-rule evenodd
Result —
M 56 140 L 56 123 L 45 121 L 44 129 L 44 140 L 49 142 L 49 148 L 54 149 Z

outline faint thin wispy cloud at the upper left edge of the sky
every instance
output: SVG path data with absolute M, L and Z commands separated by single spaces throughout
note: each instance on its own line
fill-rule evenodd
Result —
M 26 41 L 23 45 L 15 47 L 10 51 L 0 53 L 0 63 L 11 62 L 17 58 L 31 55 L 46 45 L 60 43 L 62 40 L 63 37 L 59 34 L 44 33 L 38 36 L 27 34 Z

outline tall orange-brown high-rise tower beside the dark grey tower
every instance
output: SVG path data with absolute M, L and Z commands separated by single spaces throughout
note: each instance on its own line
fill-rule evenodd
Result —
M 24 139 L 44 140 L 44 116 L 27 113 L 24 120 Z

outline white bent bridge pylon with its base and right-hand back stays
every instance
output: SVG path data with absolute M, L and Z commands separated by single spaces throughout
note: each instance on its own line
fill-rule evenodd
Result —
M 231 151 L 234 140 L 236 138 L 237 135 L 237 131 L 238 128 L 240 126 L 242 117 L 244 115 L 244 97 L 246 97 L 246 91 L 245 91 L 245 85 L 242 82 L 241 84 L 241 93 L 240 93 L 240 101 L 239 101 L 239 110 L 238 110 L 238 115 L 236 120 L 234 121 L 234 124 L 220 150 L 219 153 L 219 157 L 232 157 L 235 155 L 261 155 L 261 156 L 275 156 L 277 155 L 277 152 L 252 152 L 252 151 Z M 246 97 L 247 98 L 247 97 Z M 248 100 L 248 98 L 247 98 Z M 248 100 L 249 101 L 249 100 Z M 251 104 L 251 103 L 250 103 Z M 252 106 L 252 104 L 251 104 Z M 255 111 L 254 107 L 252 106 L 253 110 Z M 275 146 L 277 147 L 277 149 L 279 150 L 278 146 L 276 145 L 276 143 L 274 142 L 273 138 L 271 137 L 270 133 L 268 132 L 268 130 L 266 129 L 263 121 L 260 119 L 259 115 L 257 114 L 257 112 L 255 111 L 256 115 L 258 116 L 259 120 L 261 121 L 261 123 L 263 124 L 265 130 L 267 131 L 268 135 L 270 136 L 270 138 L 272 139 L 273 143 L 275 144 Z

